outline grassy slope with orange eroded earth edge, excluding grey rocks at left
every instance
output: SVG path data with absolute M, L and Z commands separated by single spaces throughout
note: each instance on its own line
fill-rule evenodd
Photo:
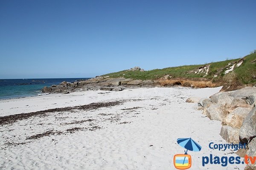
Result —
M 224 85 L 234 90 L 256 84 L 256 53 L 239 59 L 211 62 L 204 65 L 183 65 L 151 71 L 124 70 L 101 77 L 156 80 L 160 85 L 215 87 Z

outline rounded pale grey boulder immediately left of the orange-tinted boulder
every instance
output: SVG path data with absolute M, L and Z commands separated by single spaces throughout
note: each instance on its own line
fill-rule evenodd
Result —
M 211 104 L 206 108 L 206 115 L 211 120 L 223 121 L 223 119 L 225 119 L 228 114 L 227 110 L 227 105 L 222 105 L 219 103 Z

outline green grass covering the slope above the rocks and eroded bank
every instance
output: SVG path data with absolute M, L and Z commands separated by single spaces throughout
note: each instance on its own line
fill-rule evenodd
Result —
M 242 83 L 250 84 L 256 82 L 256 62 L 252 62 L 256 59 L 256 54 L 250 54 L 244 57 L 244 62 L 238 68 L 234 69 L 236 76 L 239 77 Z M 130 79 L 158 79 L 164 77 L 165 75 L 170 75 L 172 78 L 202 78 L 213 79 L 214 81 L 221 81 L 225 78 L 224 72 L 226 71 L 226 66 L 230 62 L 237 61 L 239 59 L 230 59 L 220 62 L 208 63 L 210 65 L 208 75 L 205 74 L 194 74 L 188 73 L 189 71 L 194 70 L 195 68 L 208 65 L 183 65 L 178 67 L 169 67 L 163 69 L 154 69 L 150 71 L 119 71 L 115 73 L 109 73 L 102 75 L 103 77 L 109 76 L 112 78 L 124 77 Z M 218 74 L 218 77 L 214 77 L 215 74 Z

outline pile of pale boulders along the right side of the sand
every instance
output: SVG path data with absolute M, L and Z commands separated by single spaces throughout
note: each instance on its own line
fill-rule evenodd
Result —
M 203 114 L 209 119 L 222 122 L 223 139 L 248 144 L 244 155 L 256 156 L 256 87 L 219 92 L 209 99 L 201 99 L 198 106 L 203 107 Z M 247 164 L 244 170 L 256 170 L 256 164 Z

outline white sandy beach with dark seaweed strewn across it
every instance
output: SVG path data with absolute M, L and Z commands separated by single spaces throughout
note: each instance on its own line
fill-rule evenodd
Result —
M 139 88 L 2 100 L 0 169 L 174 170 L 173 156 L 184 153 L 177 138 L 191 137 L 202 146 L 188 152 L 191 170 L 242 170 L 243 164 L 202 167 L 202 156 L 236 155 L 209 149 L 210 142 L 226 143 L 221 122 L 185 100 L 220 89 Z

